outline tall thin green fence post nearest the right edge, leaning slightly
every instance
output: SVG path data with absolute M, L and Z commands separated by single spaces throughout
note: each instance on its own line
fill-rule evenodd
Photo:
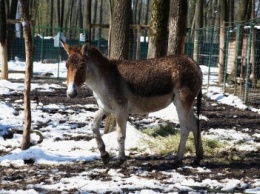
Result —
M 250 22 L 250 33 L 249 33 L 249 40 L 247 44 L 247 65 L 246 65 L 246 83 L 245 83 L 245 95 L 244 95 L 244 102 L 247 102 L 248 98 L 248 85 L 249 85 L 249 74 L 250 74 L 250 61 L 251 61 L 251 45 L 252 45 L 252 33 L 254 30 L 254 25 Z

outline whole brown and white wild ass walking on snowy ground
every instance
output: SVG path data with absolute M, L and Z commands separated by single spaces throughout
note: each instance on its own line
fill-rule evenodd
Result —
M 105 115 L 115 114 L 119 163 L 125 160 L 126 122 L 129 114 L 146 114 L 167 107 L 171 102 L 177 109 L 181 140 L 177 162 L 181 162 L 188 134 L 194 135 L 195 162 L 203 157 L 199 119 L 193 112 L 197 97 L 199 115 L 202 73 L 200 67 L 183 55 L 148 60 L 110 60 L 89 44 L 72 47 L 61 41 L 68 53 L 67 96 L 75 98 L 85 82 L 93 91 L 99 110 L 92 130 L 104 163 L 109 154 L 101 138 L 99 125 Z

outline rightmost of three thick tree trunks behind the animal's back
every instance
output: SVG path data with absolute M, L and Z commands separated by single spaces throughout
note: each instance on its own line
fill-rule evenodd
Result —
M 187 5 L 187 0 L 170 1 L 168 55 L 185 53 Z

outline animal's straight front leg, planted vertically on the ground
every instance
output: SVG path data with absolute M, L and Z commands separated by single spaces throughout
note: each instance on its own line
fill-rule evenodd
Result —
M 125 137 L 126 137 L 126 122 L 127 114 L 121 113 L 116 115 L 117 121 L 117 141 L 118 141 L 118 159 L 120 163 L 125 161 Z

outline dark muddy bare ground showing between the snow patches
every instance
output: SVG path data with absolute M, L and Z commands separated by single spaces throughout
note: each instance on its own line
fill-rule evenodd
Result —
M 33 80 L 39 82 L 40 80 Z M 53 81 L 52 83 L 60 81 Z M 0 100 L 5 99 L 7 96 L 0 96 Z M 22 99 L 22 94 L 16 96 L 8 96 L 12 101 L 17 99 Z M 86 98 L 88 97 L 88 98 Z M 40 92 L 33 91 L 31 98 L 37 100 L 43 104 L 49 103 L 64 103 L 64 105 L 71 105 L 75 103 L 79 104 L 88 104 L 95 103 L 95 99 L 92 97 L 91 91 L 86 87 L 82 89 L 79 97 L 77 99 L 68 99 L 66 97 L 65 89 L 56 89 L 55 92 Z M 212 106 L 214 104 L 214 106 Z M 208 121 L 202 120 L 201 127 L 203 131 L 207 131 L 210 128 L 222 128 L 222 129 L 236 129 L 241 130 L 244 128 L 249 128 L 245 133 L 259 133 L 260 132 L 260 115 L 249 110 L 240 110 L 231 106 L 217 104 L 206 97 L 203 97 L 202 103 L 202 114 L 208 118 Z M 0 152 L 0 156 L 5 153 Z M 243 160 L 232 160 L 230 155 L 244 155 Z M 211 170 L 211 173 L 202 173 L 197 174 L 197 181 L 204 180 L 206 178 L 221 180 L 223 178 L 235 178 L 243 179 L 245 181 L 250 181 L 250 179 L 260 179 L 260 154 L 256 152 L 245 152 L 241 153 L 237 150 L 233 150 L 232 153 L 227 155 L 222 154 L 219 157 L 229 160 L 226 163 L 216 163 L 207 156 L 201 162 L 201 166 L 205 166 Z M 231 158 L 231 159 L 230 159 Z M 93 162 L 78 162 L 73 165 L 59 165 L 59 166 L 43 166 L 43 165 L 34 165 L 30 164 L 30 161 L 27 161 L 28 165 L 24 168 L 16 168 L 10 166 L 10 168 L 0 167 L 0 188 L 3 189 L 25 189 L 28 184 L 36 184 L 41 182 L 46 182 L 49 179 L 49 174 L 53 173 L 53 168 L 57 168 L 59 171 L 62 171 L 63 174 L 59 173 L 54 178 L 59 180 L 63 177 L 70 177 L 77 173 L 83 172 L 86 169 L 92 168 L 102 168 L 103 164 L 101 161 Z M 184 159 L 185 164 L 192 165 L 192 158 L 186 157 Z M 166 175 L 162 174 L 162 171 L 169 169 L 177 169 L 172 160 L 165 159 L 164 156 L 130 156 L 128 161 L 121 167 L 121 173 L 125 176 L 131 176 L 135 167 L 138 166 L 143 170 L 147 170 L 151 173 L 154 179 L 165 179 Z M 190 169 L 185 169 L 182 171 L 182 174 L 192 174 L 193 172 Z M 149 174 L 149 176 L 151 176 Z M 223 177 L 225 176 L 225 177 Z M 26 179 L 24 179 L 26 177 Z M 93 175 L 93 179 L 109 179 L 107 174 L 102 174 L 98 177 Z M 1 185 L 2 181 L 12 181 L 12 185 Z M 39 191 L 41 192 L 41 191 Z M 68 191 L 74 192 L 74 191 Z M 128 192 L 128 191 L 125 191 Z M 236 192 L 240 192 L 237 190 Z M 55 192 L 53 192 L 55 193 Z

